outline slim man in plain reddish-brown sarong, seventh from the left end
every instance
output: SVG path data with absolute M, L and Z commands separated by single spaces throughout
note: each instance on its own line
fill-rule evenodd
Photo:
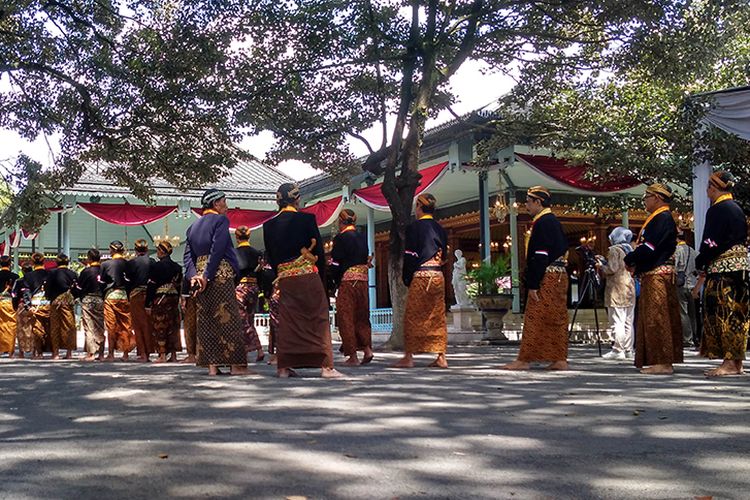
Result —
M 143 238 L 133 245 L 135 257 L 127 261 L 125 277 L 130 303 L 130 323 L 135 333 L 135 346 L 138 361 L 148 362 L 151 353 L 156 352 L 151 316 L 146 314 L 146 288 L 151 266 L 156 262 L 148 255 L 148 242 Z

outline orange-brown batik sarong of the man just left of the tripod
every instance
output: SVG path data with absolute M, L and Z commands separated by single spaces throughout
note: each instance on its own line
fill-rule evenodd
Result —
M 539 300 L 529 297 L 523 315 L 518 361 L 568 359 L 568 275 L 547 271 L 539 286 Z

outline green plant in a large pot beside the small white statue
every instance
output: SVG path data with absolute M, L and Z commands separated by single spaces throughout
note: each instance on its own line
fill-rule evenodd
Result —
M 510 259 L 501 255 L 495 262 L 482 262 L 466 275 L 466 291 L 484 318 L 487 340 L 508 340 L 503 334 L 503 317 L 513 307 Z

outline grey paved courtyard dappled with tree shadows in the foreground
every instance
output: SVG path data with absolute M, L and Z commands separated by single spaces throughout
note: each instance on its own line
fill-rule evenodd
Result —
M 515 352 L 377 353 L 334 381 L 2 359 L 0 498 L 750 497 L 748 377 L 588 347 L 569 372 L 496 369 Z

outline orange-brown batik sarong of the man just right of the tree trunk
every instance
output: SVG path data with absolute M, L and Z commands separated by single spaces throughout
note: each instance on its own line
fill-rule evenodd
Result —
M 417 271 L 409 285 L 404 312 L 404 351 L 445 353 L 445 278 L 441 271 Z

